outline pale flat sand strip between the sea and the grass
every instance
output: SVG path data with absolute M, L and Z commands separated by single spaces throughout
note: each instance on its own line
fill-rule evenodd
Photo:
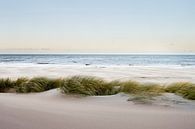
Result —
M 135 80 L 140 82 L 172 83 L 195 82 L 195 67 L 154 66 L 82 66 L 54 64 L 1 64 L 0 78 L 67 77 L 74 75 L 98 76 L 106 80 Z

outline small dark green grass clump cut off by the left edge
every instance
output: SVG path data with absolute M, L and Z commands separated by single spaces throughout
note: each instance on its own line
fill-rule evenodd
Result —
M 11 81 L 9 78 L 7 79 L 0 79 L 0 92 L 6 92 L 10 88 L 13 88 L 15 83 Z

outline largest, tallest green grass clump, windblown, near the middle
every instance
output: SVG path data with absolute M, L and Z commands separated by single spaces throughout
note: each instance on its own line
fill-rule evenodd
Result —
M 113 84 L 99 78 L 82 76 L 64 79 L 60 89 L 66 94 L 111 95 L 116 93 Z

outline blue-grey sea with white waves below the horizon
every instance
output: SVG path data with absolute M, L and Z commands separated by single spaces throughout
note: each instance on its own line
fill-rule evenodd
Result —
M 195 55 L 0 54 L 1 64 L 195 67 Z

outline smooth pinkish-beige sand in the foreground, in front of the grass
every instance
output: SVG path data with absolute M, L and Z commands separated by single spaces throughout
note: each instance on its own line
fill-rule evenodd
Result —
M 0 129 L 194 129 L 195 110 L 135 105 L 128 96 L 0 94 Z

